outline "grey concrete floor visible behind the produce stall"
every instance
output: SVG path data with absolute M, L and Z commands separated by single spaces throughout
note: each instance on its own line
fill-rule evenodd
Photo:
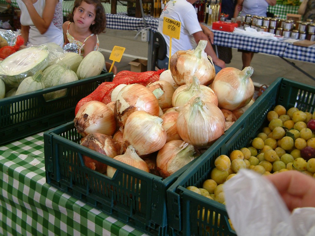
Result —
M 148 57 L 148 42 L 142 42 L 141 34 L 136 37 L 137 31 L 122 31 L 106 29 L 106 33 L 99 35 L 100 51 L 105 56 L 106 61 L 109 61 L 110 53 L 114 46 L 124 47 L 125 52 L 120 62 L 115 62 L 118 72 L 121 70 L 130 70 L 130 61 L 140 58 L 147 59 Z M 135 38 L 136 37 L 136 38 Z M 237 52 L 237 49 L 232 49 L 233 58 L 229 67 L 242 68 L 242 53 Z M 296 66 L 306 71 L 311 76 L 315 77 L 315 65 L 308 62 L 289 60 L 295 63 Z M 251 76 L 255 85 L 269 85 L 278 77 L 284 77 L 294 81 L 299 81 L 304 84 L 315 86 L 315 81 L 293 66 L 289 65 L 283 59 L 263 53 L 256 53 L 251 66 L 254 68 L 254 74 Z

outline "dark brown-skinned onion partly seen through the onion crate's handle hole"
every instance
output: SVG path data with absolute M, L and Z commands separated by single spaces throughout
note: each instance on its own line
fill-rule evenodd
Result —
M 91 133 L 82 138 L 82 146 L 92 149 L 96 152 L 114 158 L 120 154 L 120 148 L 117 143 L 110 137 L 101 133 Z M 105 173 L 107 165 L 100 161 L 94 160 L 88 156 L 82 155 L 84 165 L 88 168 Z

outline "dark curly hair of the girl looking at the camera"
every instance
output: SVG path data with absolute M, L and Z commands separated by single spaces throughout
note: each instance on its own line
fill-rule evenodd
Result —
M 95 24 L 90 25 L 90 30 L 92 31 L 93 34 L 100 34 L 105 32 L 106 28 L 106 15 L 105 15 L 105 10 L 100 2 L 100 0 L 75 0 L 73 4 L 73 9 L 72 13 L 68 14 L 68 20 L 70 22 L 73 22 L 73 14 L 74 10 L 81 5 L 82 2 L 86 2 L 88 4 L 93 4 L 95 5 Z

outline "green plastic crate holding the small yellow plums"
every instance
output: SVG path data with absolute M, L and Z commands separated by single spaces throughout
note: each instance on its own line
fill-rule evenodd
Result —
M 224 141 L 211 146 L 168 188 L 167 214 L 170 235 L 236 235 L 228 222 L 225 205 L 187 190 L 186 187 L 202 188 L 203 182 L 210 178 L 211 170 L 215 167 L 215 159 L 219 155 L 229 155 L 232 150 L 247 146 L 250 139 L 256 137 L 268 111 L 278 104 L 287 109 L 297 107 L 312 113 L 315 110 L 315 87 L 278 78 L 231 126 L 230 132 L 223 137 Z M 209 219 L 207 216 L 204 220 L 201 217 L 198 219 L 198 209 L 203 208 L 205 212 L 210 211 Z M 209 233 L 205 229 L 208 229 Z

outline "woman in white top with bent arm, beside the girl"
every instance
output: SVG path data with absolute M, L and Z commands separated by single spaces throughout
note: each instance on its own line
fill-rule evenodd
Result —
M 24 45 L 54 42 L 63 46 L 61 0 L 17 0 Z

